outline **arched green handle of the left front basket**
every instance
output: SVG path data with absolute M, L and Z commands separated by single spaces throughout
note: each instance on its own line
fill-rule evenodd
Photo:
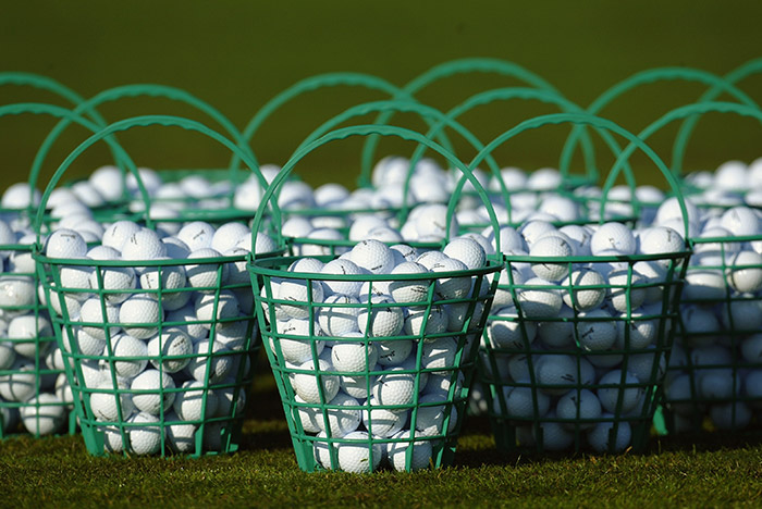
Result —
M 267 186 L 267 183 L 265 182 L 265 177 L 259 173 L 257 163 L 251 159 L 246 151 L 244 151 L 241 147 L 235 145 L 233 141 L 221 135 L 220 133 L 207 127 L 206 125 L 201 124 L 200 122 L 196 122 L 189 119 L 183 119 L 181 116 L 171 116 L 171 115 L 144 115 L 144 116 L 135 116 L 132 119 L 125 119 L 121 120 L 118 122 L 114 122 L 113 124 L 108 125 L 107 127 L 102 128 L 98 133 L 94 134 L 86 140 L 84 140 L 82 144 L 79 144 L 67 157 L 66 159 L 63 160 L 61 165 L 56 170 L 56 173 L 53 176 L 50 178 L 50 182 L 48 183 L 48 186 L 45 189 L 45 193 L 42 194 L 42 200 L 40 202 L 40 207 L 37 210 L 37 218 L 35 222 L 36 231 L 37 231 L 37 244 L 39 245 L 39 235 L 40 235 L 40 228 L 42 225 L 42 219 L 44 219 L 44 211 L 45 211 L 45 204 L 48 202 L 48 198 L 50 197 L 50 194 L 52 190 L 56 188 L 58 185 L 59 181 L 63 176 L 63 174 L 66 172 L 69 166 L 72 165 L 72 163 L 83 153 L 85 152 L 88 148 L 90 148 L 96 142 L 100 141 L 101 139 L 105 139 L 115 133 L 120 133 L 123 131 L 131 129 L 133 127 L 147 127 L 147 126 L 152 126 L 152 125 L 161 125 L 161 126 L 167 126 L 167 127 L 181 127 L 185 131 L 190 131 L 190 132 L 196 132 L 200 133 L 209 138 L 214 139 L 216 141 L 222 144 L 225 146 L 229 150 L 232 152 L 236 153 L 245 163 L 246 165 L 254 172 L 254 174 L 259 178 L 260 185 Z M 130 172 L 135 176 L 137 179 L 137 185 L 140 190 L 140 195 L 143 196 L 143 199 L 146 204 L 146 209 L 144 211 L 145 214 L 145 220 L 146 224 L 149 227 L 152 227 L 153 221 L 150 218 L 150 198 L 148 196 L 148 193 L 146 191 L 145 186 L 143 185 L 143 181 L 140 179 L 140 175 L 137 171 L 136 167 L 132 166 L 128 169 Z M 280 221 L 280 210 L 278 209 L 278 204 L 275 203 L 272 207 L 272 212 L 273 216 Z

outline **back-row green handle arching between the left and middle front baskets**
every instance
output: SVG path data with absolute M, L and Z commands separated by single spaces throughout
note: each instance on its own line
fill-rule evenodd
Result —
M 265 105 L 262 105 L 257 113 L 251 117 L 251 120 L 246 124 L 242 136 L 244 141 L 249 145 L 254 135 L 259 132 L 259 128 L 279 108 L 286 104 L 288 101 L 296 99 L 297 97 L 319 90 L 321 88 L 331 87 L 360 87 L 367 88 L 368 90 L 379 90 L 388 94 L 390 97 L 405 97 L 405 92 L 397 86 L 382 79 L 378 76 L 371 74 L 361 73 L 328 73 L 319 74 L 317 76 L 310 76 L 306 79 L 295 83 L 291 87 L 278 94 L 275 97 L 270 99 Z M 239 163 L 239 159 L 235 156 L 231 159 L 231 167 L 236 167 Z

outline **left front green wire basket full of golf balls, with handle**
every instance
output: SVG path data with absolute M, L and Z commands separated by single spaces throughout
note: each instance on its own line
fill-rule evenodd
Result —
M 42 195 L 38 232 L 46 200 L 77 157 L 114 134 L 153 125 L 202 134 L 257 171 L 233 141 L 197 122 L 157 115 L 119 121 L 59 166 Z M 137 170 L 126 160 L 150 210 Z M 150 214 L 144 224 L 126 243 L 146 249 L 132 256 L 123 250 L 128 259 L 54 251 L 66 236 L 82 245 L 71 231 L 52 232 L 34 253 L 87 449 L 97 456 L 235 451 L 259 347 L 256 320 L 245 312 L 253 302 L 246 257 L 213 250 L 185 257 L 168 249 L 175 258 L 162 258 L 152 233 L 160 224 Z

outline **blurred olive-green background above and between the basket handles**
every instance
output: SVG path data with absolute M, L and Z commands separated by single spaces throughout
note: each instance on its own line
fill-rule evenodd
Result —
M 543 76 L 570 100 L 589 104 L 630 74 L 655 66 L 691 66 L 725 74 L 761 57 L 759 1 L 673 0 L 611 2 L 249 2 L 131 1 L 2 2 L 0 71 L 50 76 L 84 97 L 131 83 L 182 87 L 210 102 L 243 128 L 254 113 L 285 87 L 312 74 L 352 71 L 403 85 L 441 62 L 466 57 L 514 61 Z M 452 78 L 423 90 L 420 100 L 448 109 L 469 95 L 519 85 L 491 75 Z M 762 102 L 762 78 L 741 87 Z M 603 114 L 639 131 L 667 110 L 695 101 L 704 86 L 667 83 L 642 87 Z M 260 162 L 282 164 L 320 123 L 351 104 L 378 100 L 379 92 L 340 88 L 302 97 L 262 125 L 253 140 Z M 52 96 L 0 87 L 0 101 L 53 101 Z M 539 103 L 511 102 L 482 108 L 462 120 L 482 141 L 534 114 L 553 112 Z M 192 109 L 158 99 L 106 104 L 102 114 L 119 120 L 169 113 L 209 122 Z M 370 117 L 366 119 L 370 120 Z M 413 128 L 409 115 L 395 122 Z M 37 147 L 54 125 L 51 119 L 0 119 L 2 182 L 25 178 Z M 501 149 L 499 162 L 533 170 L 556 165 L 568 127 L 538 131 Z M 708 115 L 688 148 L 687 166 L 716 167 L 728 159 L 762 156 L 760 126 L 747 119 Z M 85 132 L 71 128 L 49 159 L 49 175 Z M 674 129 L 653 140 L 668 156 Z M 120 136 L 140 165 L 219 167 L 225 150 L 198 135 L 144 128 Z M 456 142 L 464 159 L 472 156 Z M 411 147 L 384 140 L 383 152 Z M 358 173 L 360 140 L 334 144 L 311 154 L 298 172 L 309 182 L 352 183 Z M 83 157 L 71 176 L 109 161 L 98 147 Z M 656 182 L 643 165 L 642 182 Z

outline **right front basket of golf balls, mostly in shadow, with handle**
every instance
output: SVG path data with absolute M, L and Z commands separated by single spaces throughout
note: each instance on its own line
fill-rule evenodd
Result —
M 677 181 L 642 140 L 593 115 L 525 121 L 486 152 L 526 129 L 556 123 L 607 129 L 630 144 L 607 175 L 602 209 L 636 148 L 679 196 Z M 642 449 L 660 401 L 689 256 L 688 248 L 598 257 L 505 254 L 507 283 L 497 289 L 479 358 L 501 451 Z M 649 275 L 641 276 L 646 269 Z

